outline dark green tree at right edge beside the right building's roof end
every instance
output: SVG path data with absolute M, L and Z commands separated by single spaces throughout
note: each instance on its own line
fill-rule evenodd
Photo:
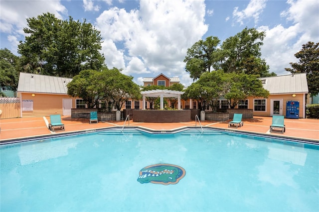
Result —
M 292 74 L 306 73 L 309 93 L 311 97 L 319 93 L 319 43 L 308 42 L 295 54 L 297 63 L 290 63 L 292 68 L 285 68 Z

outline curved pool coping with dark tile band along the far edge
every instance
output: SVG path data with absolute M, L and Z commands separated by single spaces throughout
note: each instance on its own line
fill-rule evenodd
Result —
M 310 138 L 296 138 L 291 137 L 287 135 L 274 135 L 274 134 L 266 134 L 266 133 L 260 133 L 260 132 L 251 132 L 251 131 L 244 131 L 244 130 L 238 130 L 238 129 L 223 129 L 218 127 L 212 127 L 212 126 L 182 126 L 174 129 L 151 129 L 148 127 L 143 126 L 125 126 L 124 128 L 122 126 L 110 126 L 110 127 L 102 127 L 102 128 L 95 128 L 95 129 L 86 129 L 86 130 L 77 130 L 77 131 L 70 131 L 70 132 L 60 132 L 59 134 L 46 134 L 46 135 L 36 135 L 36 136 L 27 136 L 27 137 L 19 137 L 19 138 L 10 138 L 10 139 L 3 139 L 0 140 L 0 145 L 4 144 L 13 144 L 13 143 L 20 143 L 20 142 L 26 142 L 26 141 L 34 141 L 39 139 L 48 139 L 48 138 L 57 138 L 57 137 L 63 137 L 63 136 L 69 136 L 69 135 L 79 135 L 79 134 L 85 134 L 90 132 L 99 132 L 99 131 L 105 131 L 105 130 L 112 130 L 112 129 L 138 129 L 147 133 L 151 134 L 173 134 L 185 131 L 187 129 L 209 129 L 209 130 L 217 130 L 217 131 L 224 131 L 224 132 L 234 132 L 239 134 L 246 134 L 246 135 L 258 135 L 266 138 L 276 138 L 280 140 L 289 140 L 293 142 L 299 142 L 299 143 L 306 143 L 306 144 L 314 144 L 319 145 L 319 140 L 316 139 L 310 139 Z

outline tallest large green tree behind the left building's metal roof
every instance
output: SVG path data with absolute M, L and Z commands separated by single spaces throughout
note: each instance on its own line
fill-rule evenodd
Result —
M 101 70 L 104 56 L 100 31 L 92 24 L 60 20 L 51 13 L 27 18 L 29 36 L 20 41 L 21 67 L 26 72 L 73 77 L 81 70 Z

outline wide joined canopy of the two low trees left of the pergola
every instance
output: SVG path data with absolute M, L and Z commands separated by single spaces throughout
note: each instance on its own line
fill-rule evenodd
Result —
M 117 68 L 83 70 L 67 85 L 68 95 L 82 98 L 90 108 L 104 100 L 107 108 L 116 106 L 120 110 L 128 99 L 141 99 L 140 88 L 132 80 Z

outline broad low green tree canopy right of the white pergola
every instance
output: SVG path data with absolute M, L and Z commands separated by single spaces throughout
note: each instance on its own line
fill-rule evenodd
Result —
M 186 89 L 183 99 L 197 100 L 199 109 L 209 105 L 216 110 L 221 97 L 228 101 L 231 108 L 235 108 L 240 100 L 251 96 L 264 98 L 269 96 L 269 92 L 263 88 L 256 75 L 223 73 L 220 70 L 203 73 L 198 81 Z

